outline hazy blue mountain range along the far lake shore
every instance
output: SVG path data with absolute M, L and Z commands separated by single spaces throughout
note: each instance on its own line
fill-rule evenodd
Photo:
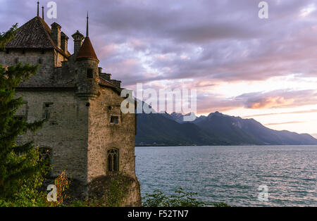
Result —
M 184 122 L 180 113 L 137 115 L 136 146 L 311 145 L 309 134 L 271 130 L 254 119 L 216 112 Z

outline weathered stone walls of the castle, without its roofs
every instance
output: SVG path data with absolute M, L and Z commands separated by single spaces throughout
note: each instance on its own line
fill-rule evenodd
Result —
M 98 177 L 116 175 L 108 171 L 107 151 L 117 149 L 120 174 L 132 180 L 123 206 L 141 206 L 135 175 L 136 118 L 134 114 L 121 113 L 120 104 L 124 98 L 117 91 L 98 85 L 98 64 L 87 65 L 83 61 L 75 64 L 73 56 L 66 61 L 54 49 L 0 52 L 0 64 L 17 63 L 40 64 L 37 75 L 16 89 L 15 96 L 22 96 L 25 101 L 17 115 L 28 122 L 47 118 L 35 134 L 27 132 L 18 137 L 18 142 L 35 141 L 39 148 L 49 149 L 51 177 L 66 170 L 71 178 L 81 183 L 77 186 L 82 187 Z M 92 80 L 86 79 L 83 70 L 87 67 L 94 69 Z M 77 87 L 82 86 L 87 87 L 84 92 L 92 94 L 94 91 L 94 98 L 78 96 L 82 89 Z M 118 124 L 111 122 L 111 116 L 118 117 Z

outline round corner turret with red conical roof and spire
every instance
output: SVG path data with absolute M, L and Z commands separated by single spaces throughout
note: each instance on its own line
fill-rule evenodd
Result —
M 99 60 L 89 39 L 88 19 L 87 13 L 86 37 L 76 56 L 75 72 L 77 75 L 77 96 L 93 98 L 99 93 Z M 80 39 L 80 35 L 76 35 Z

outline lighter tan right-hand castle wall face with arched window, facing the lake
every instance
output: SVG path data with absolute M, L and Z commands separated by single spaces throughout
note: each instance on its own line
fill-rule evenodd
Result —
M 90 99 L 88 134 L 88 180 L 108 175 L 108 149 L 119 150 L 119 171 L 135 178 L 135 115 L 120 110 L 123 98 L 110 88 L 100 87 L 100 96 Z M 118 124 L 111 123 L 118 116 Z

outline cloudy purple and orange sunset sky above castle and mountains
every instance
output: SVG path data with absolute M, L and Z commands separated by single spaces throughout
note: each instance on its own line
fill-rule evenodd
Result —
M 0 0 L 0 31 L 35 17 L 36 2 Z M 268 0 L 268 19 L 258 0 L 55 2 L 57 18 L 45 21 L 61 25 L 71 53 L 89 11 L 99 66 L 123 87 L 196 89 L 197 115 L 317 137 L 317 0 Z

